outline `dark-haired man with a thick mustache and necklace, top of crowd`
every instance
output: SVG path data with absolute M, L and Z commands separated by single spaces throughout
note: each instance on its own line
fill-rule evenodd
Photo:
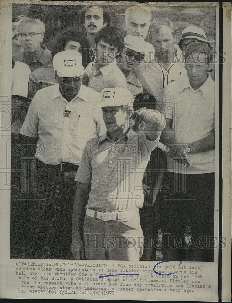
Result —
M 89 48 L 86 49 L 86 62 L 83 65 L 85 68 L 88 63 L 95 60 L 95 35 L 96 33 L 106 27 L 110 26 L 110 15 L 105 12 L 99 5 L 87 5 L 79 13 L 79 23 L 86 29 L 87 39 L 89 41 Z

